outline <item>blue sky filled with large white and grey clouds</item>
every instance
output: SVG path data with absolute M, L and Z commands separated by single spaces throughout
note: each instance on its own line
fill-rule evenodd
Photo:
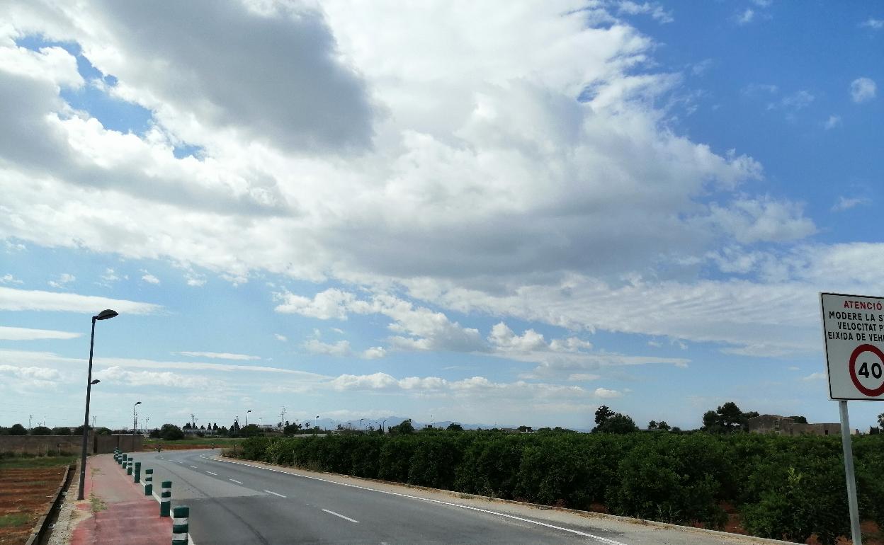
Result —
M 0 4 L 0 425 L 82 423 L 104 308 L 110 428 L 838 421 L 882 52 L 861 2 Z

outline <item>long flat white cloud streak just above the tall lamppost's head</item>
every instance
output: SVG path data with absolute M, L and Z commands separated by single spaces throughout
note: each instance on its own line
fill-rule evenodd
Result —
M 126 299 L 0 287 L 0 310 L 45 310 L 97 314 L 103 308 L 112 308 L 119 314 L 156 314 L 162 309 L 159 305 L 152 303 L 140 303 Z

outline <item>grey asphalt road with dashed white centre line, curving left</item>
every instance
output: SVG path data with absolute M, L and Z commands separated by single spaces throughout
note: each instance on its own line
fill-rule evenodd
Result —
M 172 481 L 172 504 L 190 506 L 196 545 L 759 542 L 212 458 L 210 450 L 135 457 L 154 469 L 157 494 Z

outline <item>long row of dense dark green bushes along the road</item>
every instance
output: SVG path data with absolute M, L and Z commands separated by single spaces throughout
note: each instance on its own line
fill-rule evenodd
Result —
M 884 528 L 884 436 L 857 437 L 860 515 Z M 722 528 L 733 505 L 761 537 L 850 532 L 837 437 L 422 432 L 252 437 L 242 458 L 432 488 Z

